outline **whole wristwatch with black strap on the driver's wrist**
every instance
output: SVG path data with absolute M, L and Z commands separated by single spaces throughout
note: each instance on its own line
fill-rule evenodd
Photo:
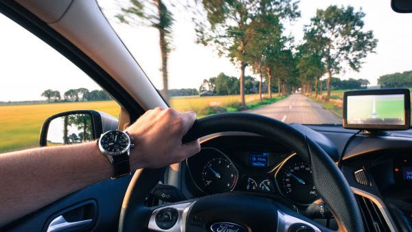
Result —
M 98 146 L 100 152 L 115 167 L 115 175 L 112 179 L 130 174 L 130 148 L 134 148 L 135 144 L 133 144 L 133 137 L 128 132 L 109 130 L 100 135 Z

